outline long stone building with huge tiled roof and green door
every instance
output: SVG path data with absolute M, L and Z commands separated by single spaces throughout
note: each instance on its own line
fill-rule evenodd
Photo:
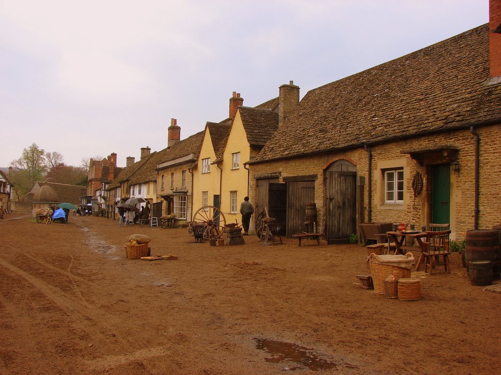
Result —
M 490 25 L 310 90 L 249 162 L 255 202 L 281 183 L 287 235 L 314 202 L 329 243 L 366 221 L 450 223 L 452 238 L 498 224 L 500 8 L 491 0 Z

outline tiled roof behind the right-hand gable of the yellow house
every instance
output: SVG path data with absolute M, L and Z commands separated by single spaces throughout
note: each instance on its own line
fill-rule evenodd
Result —
M 243 128 L 251 146 L 263 147 L 279 126 L 279 115 L 270 109 L 239 106 Z

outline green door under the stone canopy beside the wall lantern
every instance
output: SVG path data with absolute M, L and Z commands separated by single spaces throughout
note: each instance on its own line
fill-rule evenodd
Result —
M 431 222 L 450 222 L 450 166 L 436 165 L 432 169 Z

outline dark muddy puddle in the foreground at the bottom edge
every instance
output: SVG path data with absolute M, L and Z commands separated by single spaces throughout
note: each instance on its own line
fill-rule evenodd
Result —
M 313 371 L 337 369 L 337 363 L 322 359 L 313 352 L 313 348 L 299 346 L 291 342 L 275 341 L 266 338 L 254 338 L 256 348 L 264 350 L 273 357 L 265 358 L 267 362 L 295 362 L 298 366 L 285 367 L 285 370 L 308 368 Z

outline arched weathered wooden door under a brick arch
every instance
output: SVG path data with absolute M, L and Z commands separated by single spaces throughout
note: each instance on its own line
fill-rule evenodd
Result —
M 325 172 L 325 234 L 328 243 L 347 243 L 357 232 L 357 167 L 337 160 Z

